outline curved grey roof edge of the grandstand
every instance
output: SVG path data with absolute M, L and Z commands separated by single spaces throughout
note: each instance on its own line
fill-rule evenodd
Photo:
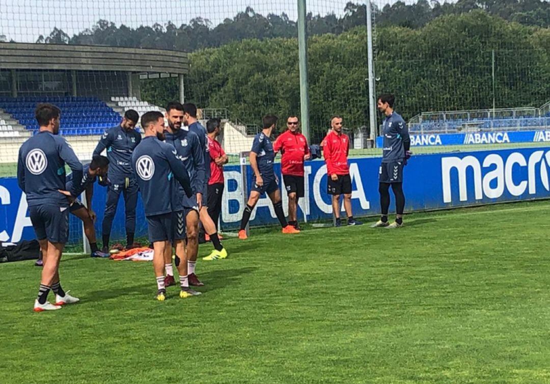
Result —
M 0 42 L 0 69 L 186 74 L 189 59 L 185 52 L 168 50 Z

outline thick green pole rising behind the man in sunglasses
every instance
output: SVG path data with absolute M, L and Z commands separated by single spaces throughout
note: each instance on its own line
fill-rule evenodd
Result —
M 300 67 L 300 113 L 302 134 L 311 142 L 307 85 L 306 0 L 298 0 L 298 59 Z

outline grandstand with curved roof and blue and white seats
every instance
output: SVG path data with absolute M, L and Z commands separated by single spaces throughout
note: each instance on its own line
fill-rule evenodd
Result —
M 140 80 L 188 73 L 186 53 L 141 48 L 0 43 L 2 163 L 17 162 L 22 142 L 37 129 L 34 109 L 51 102 L 62 110 L 61 130 L 81 160 L 127 109 L 162 108 L 140 101 Z

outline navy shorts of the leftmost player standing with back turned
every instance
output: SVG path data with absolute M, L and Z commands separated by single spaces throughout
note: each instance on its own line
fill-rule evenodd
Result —
M 32 228 L 38 240 L 67 243 L 69 239 L 69 207 L 38 205 L 29 207 Z

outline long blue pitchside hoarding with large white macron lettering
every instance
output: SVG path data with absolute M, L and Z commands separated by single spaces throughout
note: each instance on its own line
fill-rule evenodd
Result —
M 351 202 L 355 216 L 379 213 L 378 172 L 380 158 L 351 158 L 353 180 Z M 413 156 L 404 171 L 405 210 L 448 209 L 449 207 L 491 204 L 494 202 L 550 198 L 550 149 L 526 148 L 461 153 L 437 153 Z M 247 169 L 248 185 L 252 171 Z M 240 166 L 224 168 L 226 188 L 222 204 L 222 228 L 239 226 L 245 207 L 243 178 Z M 276 164 L 280 174 L 280 164 Z M 281 177 L 279 177 L 281 180 Z M 326 192 L 326 166 L 322 160 L 306 162 L 305 197 L 299 201 L 301 221 L 326 220 L 332 217 L 331 196 Z M 283 207 L 287 196 L 283 188 Z M 97 213 L 96 229 L 101 237 L 101 221 L 105 207 L 106 188 L 95 186 L 93 209 Z M 343 208 L 343 207 L 342 207 Z M 146 235 L 143 206 L 138 201 L 136 235 Z M 81 226 L 70 219 L 70 242 L 78 242 Z M 271 201 L 262 196 L 252 212 L 251 226 L 277 224 Z M 124 204 L 119 201 L 113 222 L 112 239 L 122 239 Z M 34 238 L 24 195 L 14 178 L 0 179 L 0 241 L 17 242 Z

